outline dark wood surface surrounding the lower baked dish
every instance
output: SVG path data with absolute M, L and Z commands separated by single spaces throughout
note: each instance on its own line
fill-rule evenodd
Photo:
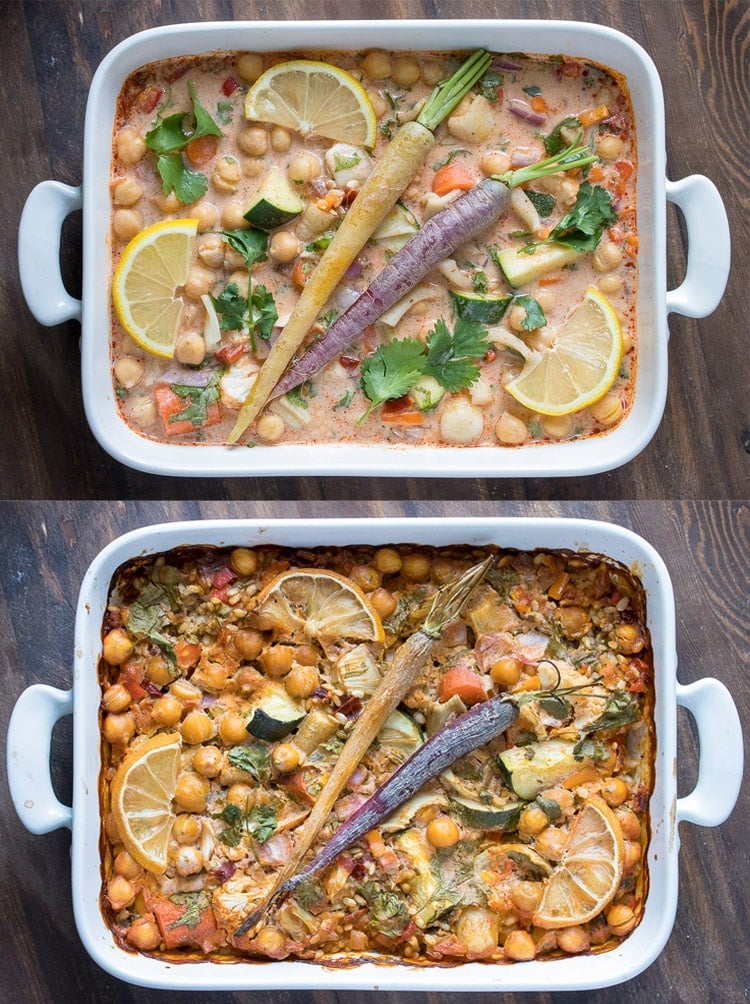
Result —
M 348 502 L 341 516 L 523 515 L 605 519 L 645 536 L 662 553 L 675 587 L 679 678 L 716 677 L 732 691 L 740 716 L 750 714 L 747 679 L 747 554 L 750 505 L 729 502 L 483 503 Z M 172 519 L 330 516 L 325 503 L 5 502 L 0 503 L 0 729 L 31 684 L 71 686 L 73 611 L 83 573 L 118 534 Z M 681 712 L 679 794 L 694 786 L 699 760 L 692 719 Z M 52 776 L 59 797 L 71 792 L 70 719 L 56 728 Z M 70 888 L 70 836 L 28 833 L 10 803 L 0 769 L 0 1000 L 8 1004 L 112 1001 L 178 1004 L 189 995 L 139 990 L 100 971 L 75 933 Z M 680 829 L 680 902 L 672 937 L 659 959 L 620 987 L 576 994 L 493 995 L 517 1004 L 739 1004 L 750 987 L 746 793 L 720 827 Z M 213 1004 L 448 1004 L 447 995 L 329 991 L 220 993 Z M 489 996 L 468 993 L 466 1004 Z

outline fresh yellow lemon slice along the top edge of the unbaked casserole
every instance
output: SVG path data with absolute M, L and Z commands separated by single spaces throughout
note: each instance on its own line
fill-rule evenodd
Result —
M 292 59 L 261 74 L 245 97 L 245 116 L 301 136 L 374 147 L 378 119 L 367 93 L 345 70 Z

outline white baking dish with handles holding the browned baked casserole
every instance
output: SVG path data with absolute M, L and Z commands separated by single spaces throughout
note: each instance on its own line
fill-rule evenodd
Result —
M 170 964 L 118 948 L 99 912 L 99 688 L 96 667 L 109 582 L 123 561 L 181 544 L 320 544 L 416 542 L 446 545 L 495 543 L 517 548 L 569 548 L 603 553 L 640 575 L 647 591 L 648 623 L 656 668 L 656 784 L 651 799 L 650 892 L 641 925 L 599 956 L 515 965 L 467 963 L 455 968 L 361 964 L 326 969 L 303 962 Z M 72 830 L 75 920 L 91 957 L 120 979 L 171 990 L 325 988 L 380 990 L 584 990 L 628 980 L 659 955 L 677 909 L 680 822 L 718 825 L 737 800 L 742 777 L 742 735 L 732 698 L 717 680 L 681 686 L 676 680 L 672 584 L 660 556 L 629 530 L 566 519 L 372 519 L 206 521 L 145 527 L 114 540 L 90 565 L 75 621 L 73 687 L 36 685 L 19 698 L 8 731 L 8 775 L 13 802 L 35 833 Z M 693 792 L 677 797 L 677 707 L 696 719 L 700 769 Z M 73 715 L 73 804 L 60 804 L 50 781 L 49 743 L 55 722 Z

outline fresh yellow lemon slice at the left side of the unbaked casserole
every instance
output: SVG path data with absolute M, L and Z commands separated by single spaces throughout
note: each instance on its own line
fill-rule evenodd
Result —
M 172 358 L 198 220 L 163 220 L 133 238 L 112 280 L 114 309 L 122 327 L 142 348 Z

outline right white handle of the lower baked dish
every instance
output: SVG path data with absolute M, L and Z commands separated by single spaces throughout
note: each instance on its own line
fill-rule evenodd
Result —
M 698 782 L 677 800 L 677 821 L 718 826 L 735 806 L 742 782 L 742 729 L 732 696 L 718 680 L 677 685 L 677 703 L 698 727 Z

